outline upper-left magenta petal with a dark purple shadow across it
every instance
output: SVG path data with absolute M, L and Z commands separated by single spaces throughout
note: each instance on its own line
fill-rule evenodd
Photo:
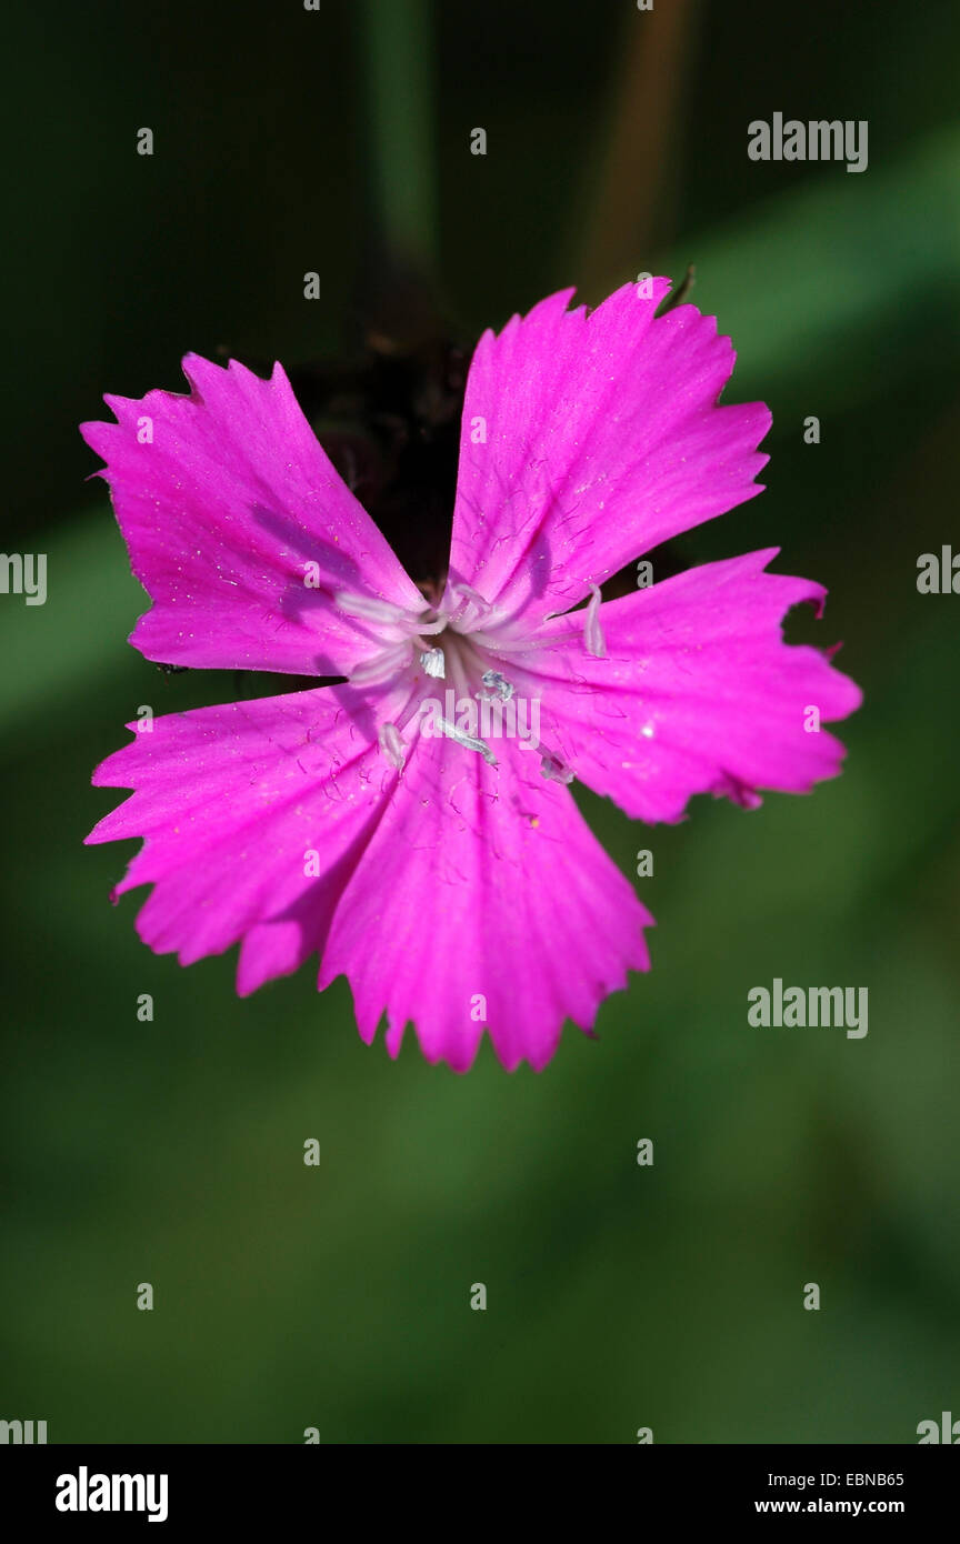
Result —
M 154 602 L 131 642 L 167 664 L 347 675 L 383 645 L 333 593 L 421 610 L 420 591 L 279 364 L 261 380 L 188 354 L 184 374 L 188 397 L 105 397 L 117 423 L 80 426 L 106 462 L 133 571 Z

